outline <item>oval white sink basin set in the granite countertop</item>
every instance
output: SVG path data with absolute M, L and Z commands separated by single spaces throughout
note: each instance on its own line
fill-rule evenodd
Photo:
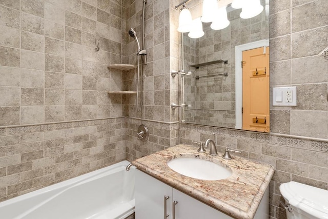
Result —
M 175 172 L 198 180 L 223 180 L 232 174 L 226 167 L 198 158 L 175 158 L 168 162 L 168 166 Z

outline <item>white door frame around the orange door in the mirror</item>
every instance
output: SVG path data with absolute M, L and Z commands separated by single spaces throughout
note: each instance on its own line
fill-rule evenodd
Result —
M 242 52 L 245 50 L 256 49 L 259 47 L 268 47 L 269 39 L 262 39 L 248 44 L 242 44 L 235 47 L 235 95 L 236 95 L 236 129 L 242 129 Z

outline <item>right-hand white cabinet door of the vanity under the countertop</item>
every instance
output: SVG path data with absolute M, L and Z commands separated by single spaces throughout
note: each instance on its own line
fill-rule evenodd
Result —
M 195 198 L 173 189 L 175 205 L 175 219 L 232 219 L 233 217 L 208 206 Z

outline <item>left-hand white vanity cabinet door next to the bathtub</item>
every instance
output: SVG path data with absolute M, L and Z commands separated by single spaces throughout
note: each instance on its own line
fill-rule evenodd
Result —
M 135 178 L 135 218 L 136 219 L 172 219 L 172 187 L 156 178 L 136 170 Z M 164 216 L 164 196 L 168 217 Z

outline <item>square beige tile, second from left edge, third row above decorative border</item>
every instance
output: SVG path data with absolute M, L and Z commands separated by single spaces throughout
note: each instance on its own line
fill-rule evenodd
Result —
M 22 87 L 43 88 L 45 84 L 44 75 L 44 71 L 21 69 L 20 81 L 22 82 Z

